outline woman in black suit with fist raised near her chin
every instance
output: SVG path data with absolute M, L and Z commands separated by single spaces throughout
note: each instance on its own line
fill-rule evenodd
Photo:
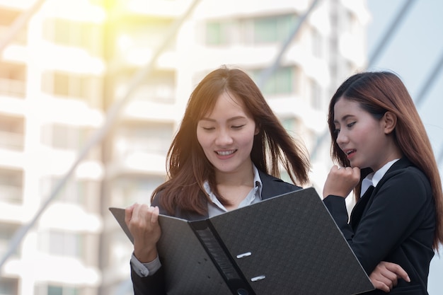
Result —
M 430 260 L 443 242 L 442 180 L 403 82 L 388 71 L 351 76 L 330 100 L 328 125 L 338 166 L 323 202 L 370 274 L 377 288 L 370 294 L 427 294 Z M 410 282 L 384 277 L 384 265 L 399 265 Z

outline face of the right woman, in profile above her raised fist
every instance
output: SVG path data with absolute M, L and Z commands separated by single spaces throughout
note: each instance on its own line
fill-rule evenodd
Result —
M 390 115 L 387 116 L 389 118 Z M 334 105 L 334 124 L 336 142 L 352 167 L 376 171 L 393 158 L 398 158 L 393 139 L 389 136 L 392 129 L 388 128 L 390 122 L 386 120 L 386 114 L 376 120 L 359 103 L 342 97 Z

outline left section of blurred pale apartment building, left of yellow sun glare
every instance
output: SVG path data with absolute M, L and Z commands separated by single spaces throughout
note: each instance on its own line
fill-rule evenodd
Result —
M 0 38 L 35 1 L 0 1 Z M 47 1 L 0 59 L 0 255 L 103 123 L 105 11 Z M 97 294 L 101 146 L 1 269 L 0 294 Z

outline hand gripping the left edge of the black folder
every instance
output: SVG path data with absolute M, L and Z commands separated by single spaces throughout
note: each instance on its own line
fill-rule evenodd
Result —
M 140 262 L 157 257 L 156 243 L 161 236 L 159 207 L 133 204 L 125 209 L 125 223 L 134 238 L 134 255 Z

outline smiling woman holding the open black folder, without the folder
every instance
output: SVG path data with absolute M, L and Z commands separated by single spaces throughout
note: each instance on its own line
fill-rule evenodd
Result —
M 258 86 L 240 69 L 222 67 L 192 92 L 168 151 L 168 180 L 151 206 L 134 204 L 125 222 L 134 236 L 134 294 L 166 294 L 156 243 L 158 216 L 197 220 L 299 190 L 308 182 L 309 157 L 274 115 Z

